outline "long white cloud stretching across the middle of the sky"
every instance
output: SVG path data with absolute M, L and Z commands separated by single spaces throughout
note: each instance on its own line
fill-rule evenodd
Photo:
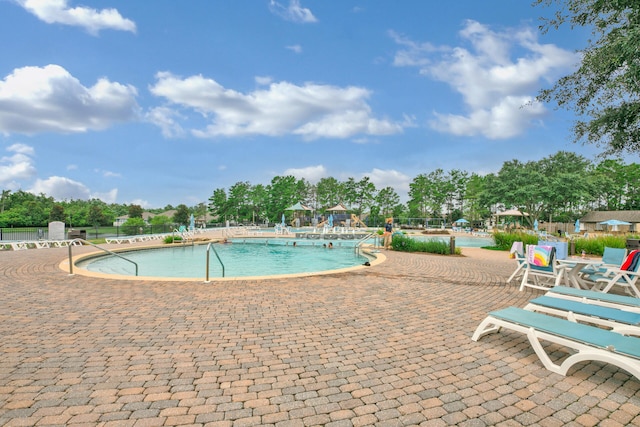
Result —
M 297 134 L 310 140 L 402 132 L 402 124 L 372 117 L 370 92 L 360 87 L 279 82 L 244 94 L 201 75 L 156 78 L 154 95 L 211 117 L 205 129 L 192 131 L 197 137 Z

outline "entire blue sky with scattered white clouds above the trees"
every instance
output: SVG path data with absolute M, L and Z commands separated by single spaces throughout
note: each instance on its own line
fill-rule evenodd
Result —
M 528 104 L 585 31 L 529 0 L 0 0 L 0 188 L 146 208 L 369 176 L 403 200 L 571 142 Z

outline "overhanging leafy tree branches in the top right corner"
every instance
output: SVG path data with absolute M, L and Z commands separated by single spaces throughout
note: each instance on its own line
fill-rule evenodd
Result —
M 540 92 L 578 115 L 575 142 L 595 144 L 604 154 L 640 152 L 640 2 L 638 0 L 535 0 L 560 9 L 541 29 L 588 27 L 579 68 Z

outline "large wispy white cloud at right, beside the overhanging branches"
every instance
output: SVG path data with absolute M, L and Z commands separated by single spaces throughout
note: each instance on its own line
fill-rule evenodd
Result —
M 542 105 L 532 102 L 541 81 L 554 81 L 578 62 L 572 52 L 540 44 L 529 28 L 494 32 L 467 21 L 460 37 L 468 48 L 419 44 L 395 33 L 391 37 L 403 46 L 394 65 L 417 67 L 462 96 L 466 114 L 435 112 L 430 122 L 454 135 L 503 139 L 521 134 L 545 114 Z

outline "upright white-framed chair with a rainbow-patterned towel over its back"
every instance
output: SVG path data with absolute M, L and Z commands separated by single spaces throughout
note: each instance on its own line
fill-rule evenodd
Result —
M 525 287 L 549 289 L 558 286 L 564 278 L 564 268 L 556 262 L 556 248 L 552 246 L 527 245 L 527 261 L 520 282 L 520 291 Z

